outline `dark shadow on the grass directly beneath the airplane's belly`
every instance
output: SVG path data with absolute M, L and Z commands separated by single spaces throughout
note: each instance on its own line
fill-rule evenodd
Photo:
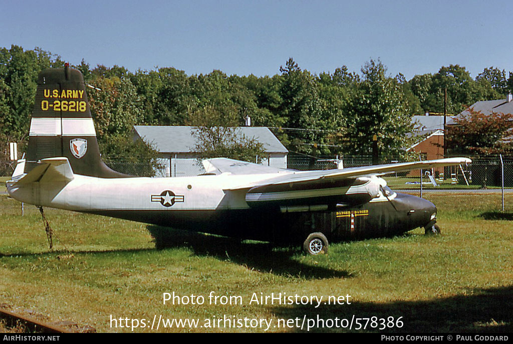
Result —
M 239 239 L 177 231 L 154 225 L 148 225 L 147 228 L 154 238 L 157 250 L 187 247 L 195 255 L 232 261 L 249 269 L 280 276 L 302 276 L 307 279 L 351 277 L 347 271 L 303 264 L 292 259 L 298 253 L 295 246 L 273 250 L 272 245 L 265 242 L 242 242 Z

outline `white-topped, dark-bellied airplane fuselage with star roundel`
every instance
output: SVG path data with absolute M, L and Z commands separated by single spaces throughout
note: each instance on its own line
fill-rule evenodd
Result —
M 322 184 L 289 191 L 289 205 L 274 204 L 283 192 L 259 193 L 265 202 L 252 206 L 247 190 L 236 185 L 276 177 L 265 175 L 205 175 L 177 178 L 96 178 L 75 175 L 68 182 L 9 185 L 16 199 L 38 206 L 104 215 L 182 230 L 275 242 L 303 241 L 322 232 L 330 241 L 401 234 L 434 223 L 436 207 L 424 199 L 391 193 L 383 195 L 383 179 L 372 177 L 353 184 Z M 321 185 L 321 184 L 320 184 Z M 316 192 L 333 190 L 337 202 L 326 204 Z M 274 191 L 274 192 L 273 192 Z M 294 201 L 298 194 L 301 201 Z M 254 196 L 254 195 L 252 195 Z M 254 197 L 253 197 L 254 198 Z M 270 201 L 268 201 L 270 200 Z M 308 200 L 308 199 L 307 199 Z M 326 200 L 326 198 L 324 198 Z M 301 203 L 303 202 L 303 203 Z M 249 205 L 248 205 L 249 203 Z

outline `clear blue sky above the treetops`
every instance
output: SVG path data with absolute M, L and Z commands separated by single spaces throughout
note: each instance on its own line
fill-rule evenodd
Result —
M 187 74 L 313 73 L 380 58 L 388 73 L 459 64 L 513 71 L 511 1 L 7 1 L 0 46 L 41 47 L 78 64 Z

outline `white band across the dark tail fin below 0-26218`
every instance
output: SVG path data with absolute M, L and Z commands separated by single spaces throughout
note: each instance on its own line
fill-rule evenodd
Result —
M 29 136 L 96 136 L 92 118 L 32 117 Z

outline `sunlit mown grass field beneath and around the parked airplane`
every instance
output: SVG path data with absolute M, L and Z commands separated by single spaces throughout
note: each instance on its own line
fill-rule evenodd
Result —
M 172 231 L 141 223 L 45 209 L 54 233 L 49 252 L 34 206 L 0 195 L 0 304 L 48 322 L 72 321 L 98 332 L 110 317 L 272 319 L 270 332 L 298 332 L 313 319 L 400 317 L 380 332 L 513 330 L 513 195 L 427 194 L 439 209 L 442 236 L 405 236 L 330 245 L 327 256 L 299 248 Z M 63 243 L 73 257 L 68 256 Z M 163 304 L 163 293 L 203 296 L 203 305 Z M 242 304 L 208 304 L 209 293 Z M 268 296 L 350 295 L 351 304 L 256 304 Z M 263 293 L 263 294 L 260 294 Z M 233 299 L 235 301 L 236 299 Z M 279 319 L 293 326 L 274 328 Z M 286 322 L 282 322 L 286 323 Z M 131 322 L 129 322 L 131 324 Z M 290 323 L 292 324 L 292 323 Z M 378 332 L 369 321 L 365 331 Z M 329 325 L 329 322 L 325 322 Z M 156 325 L 155 325 L 156 326 Z M 306 326 L 306 323 L 305 323 Z M 264 329 L 266 326 L 264 326 Z M 155 332 L 137 328 L 134 332 Z M 262 332 L 257 328 L 163 328 L 159 332 Z M 344 328 L 310 332 L 364 332 Z

